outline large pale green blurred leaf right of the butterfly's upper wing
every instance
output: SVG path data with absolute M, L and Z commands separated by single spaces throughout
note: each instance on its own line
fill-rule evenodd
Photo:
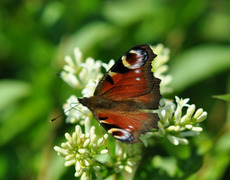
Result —
M 230 68 L 230 46 L 203 45 L 190 49 L 176 59 L 170 67 L 171 86 L 175 92 Z

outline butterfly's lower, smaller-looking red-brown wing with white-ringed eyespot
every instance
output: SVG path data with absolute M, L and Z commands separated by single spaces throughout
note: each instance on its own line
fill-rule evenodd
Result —
M 148 112 L 94 112 L 94 117 L 114 138 L 126 143 L 136 143 L 139 136 L 157 128 L 158 115 Z

